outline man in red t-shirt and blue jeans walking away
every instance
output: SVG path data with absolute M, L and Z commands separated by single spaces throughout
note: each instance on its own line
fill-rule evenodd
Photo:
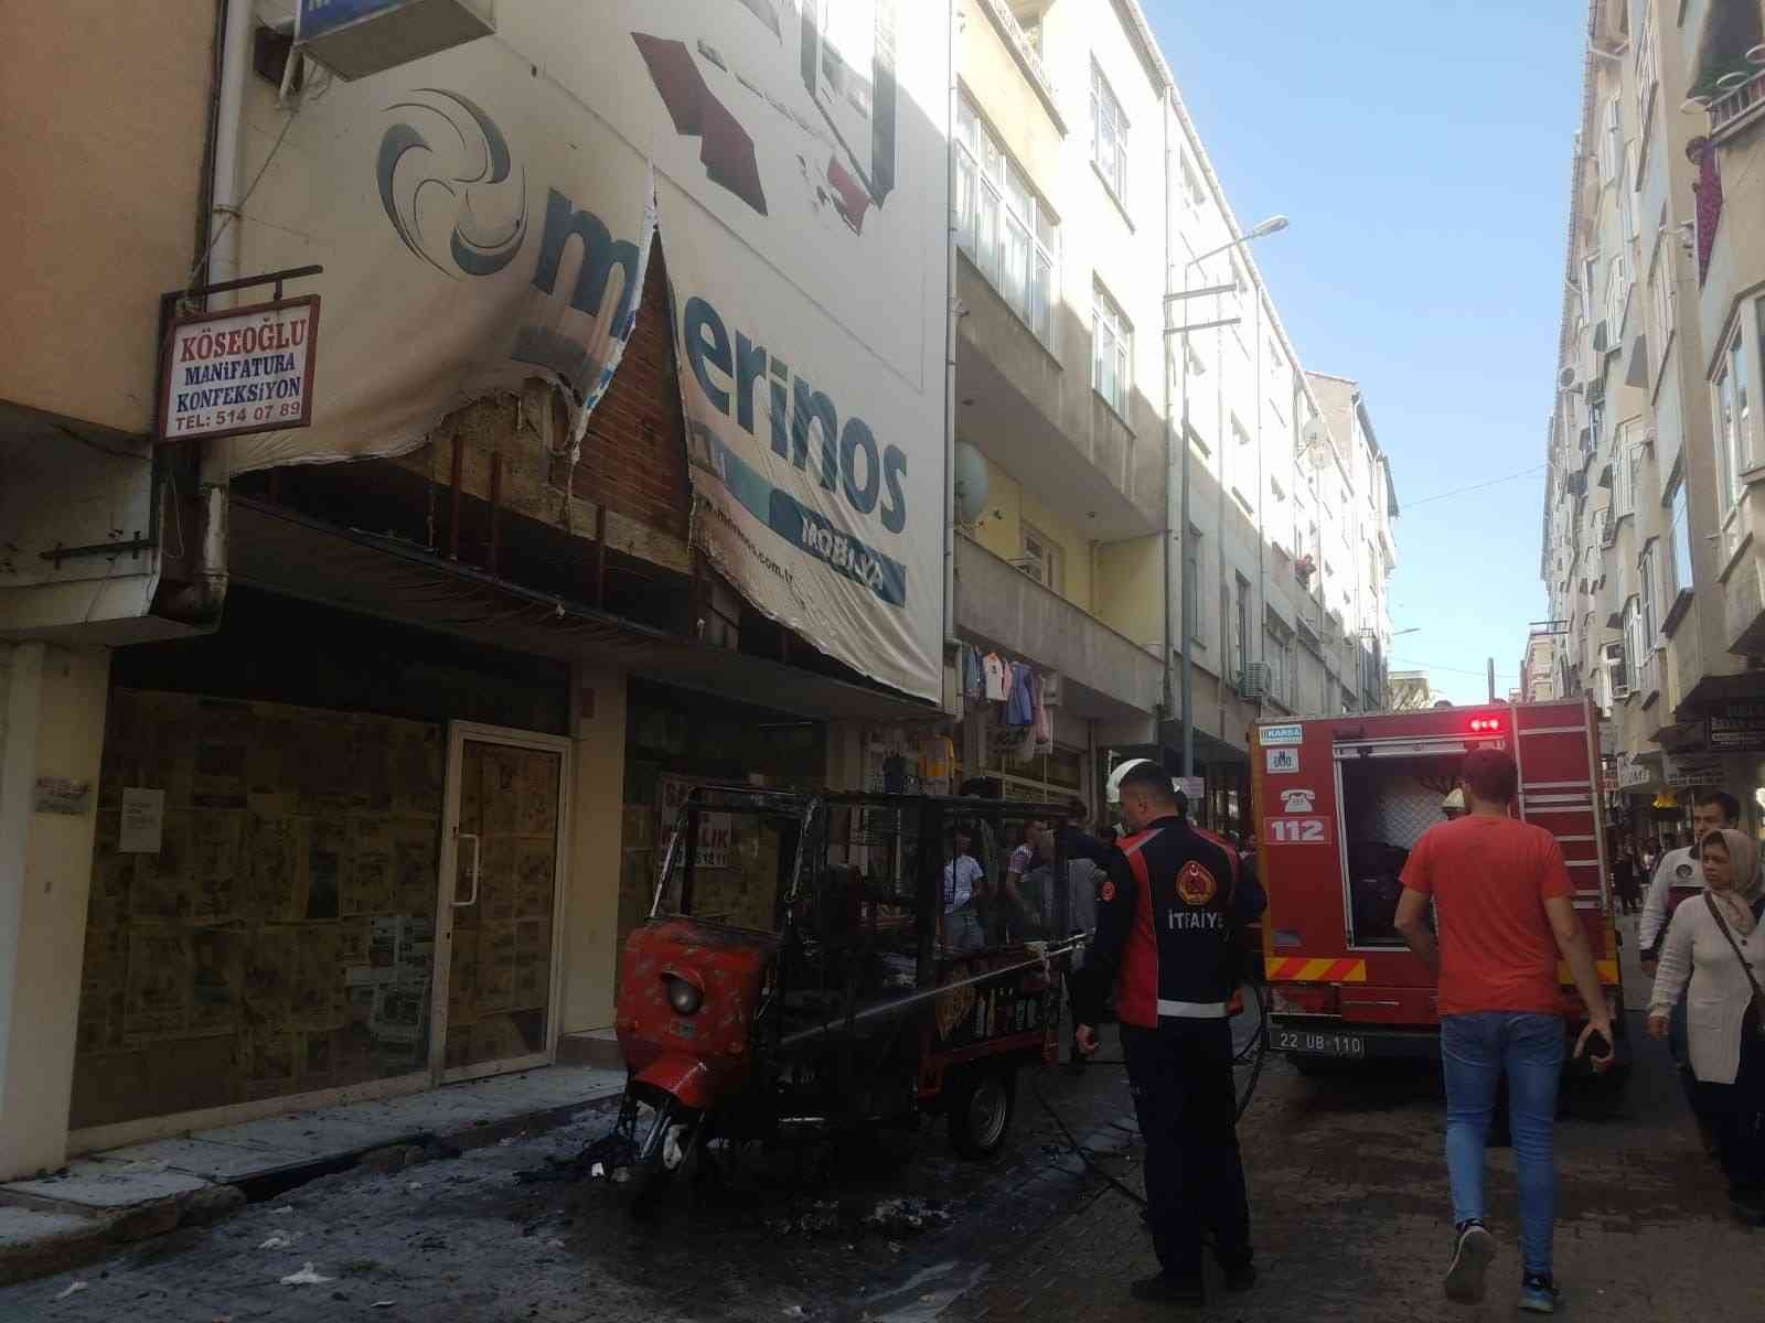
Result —
M 1440 981 L 1446 1164 L 1456 1230 L 1446 1295 L 1460 1304 L 1483 1300 L 1483 1275 L 1495 1256 L 1483 1224 L 1483 1150 L 1506 1071 L 1525 1256 L 1520 1307 L 1550 1314 L 1557 1309 L 1551 1127 L 1564 1058 L 1558 956 L 1587 1004 L 1578 1057 L 1601 1034 L 1608 1046 L 1596 1065 L 1610 1060 L 1611 1016 L 1569 898 L 1562 847 L 1543 827 L 1509 817 L 1520 785 L 1514 760 L 1500 750 L 1474 750 L 1460 781 L 1468 811 L 1416 841 L 1396 919 L 1403 940 Z M 1438 942 L 1428 930 L 1430 900 Z

